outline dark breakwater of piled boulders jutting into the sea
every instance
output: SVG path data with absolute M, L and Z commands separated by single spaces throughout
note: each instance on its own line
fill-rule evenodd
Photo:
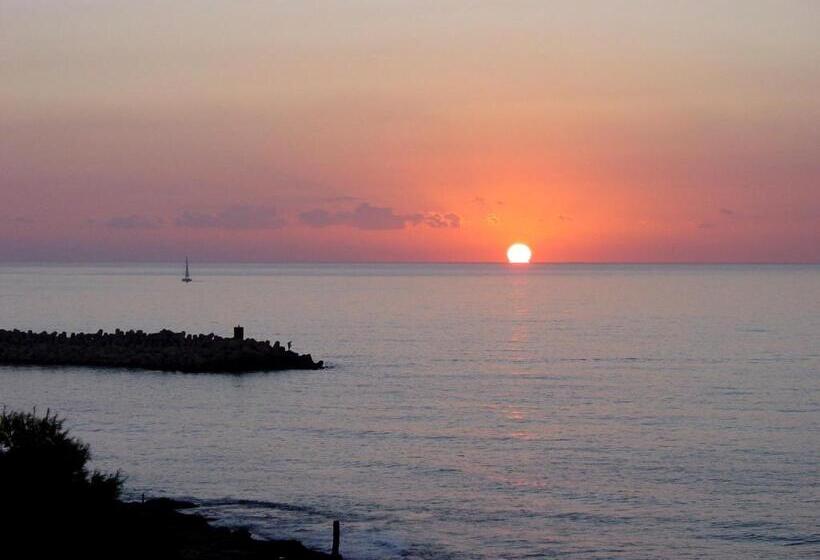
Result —
M 156 333 L 32 332 L 0 329 L 0 365 L 92 366 L 187 373 L 244 373 L 284 369 L 321 369 L 310 354 L 297 354 L 279 342 L 246 339 L 242 327 L 233 338 Z

